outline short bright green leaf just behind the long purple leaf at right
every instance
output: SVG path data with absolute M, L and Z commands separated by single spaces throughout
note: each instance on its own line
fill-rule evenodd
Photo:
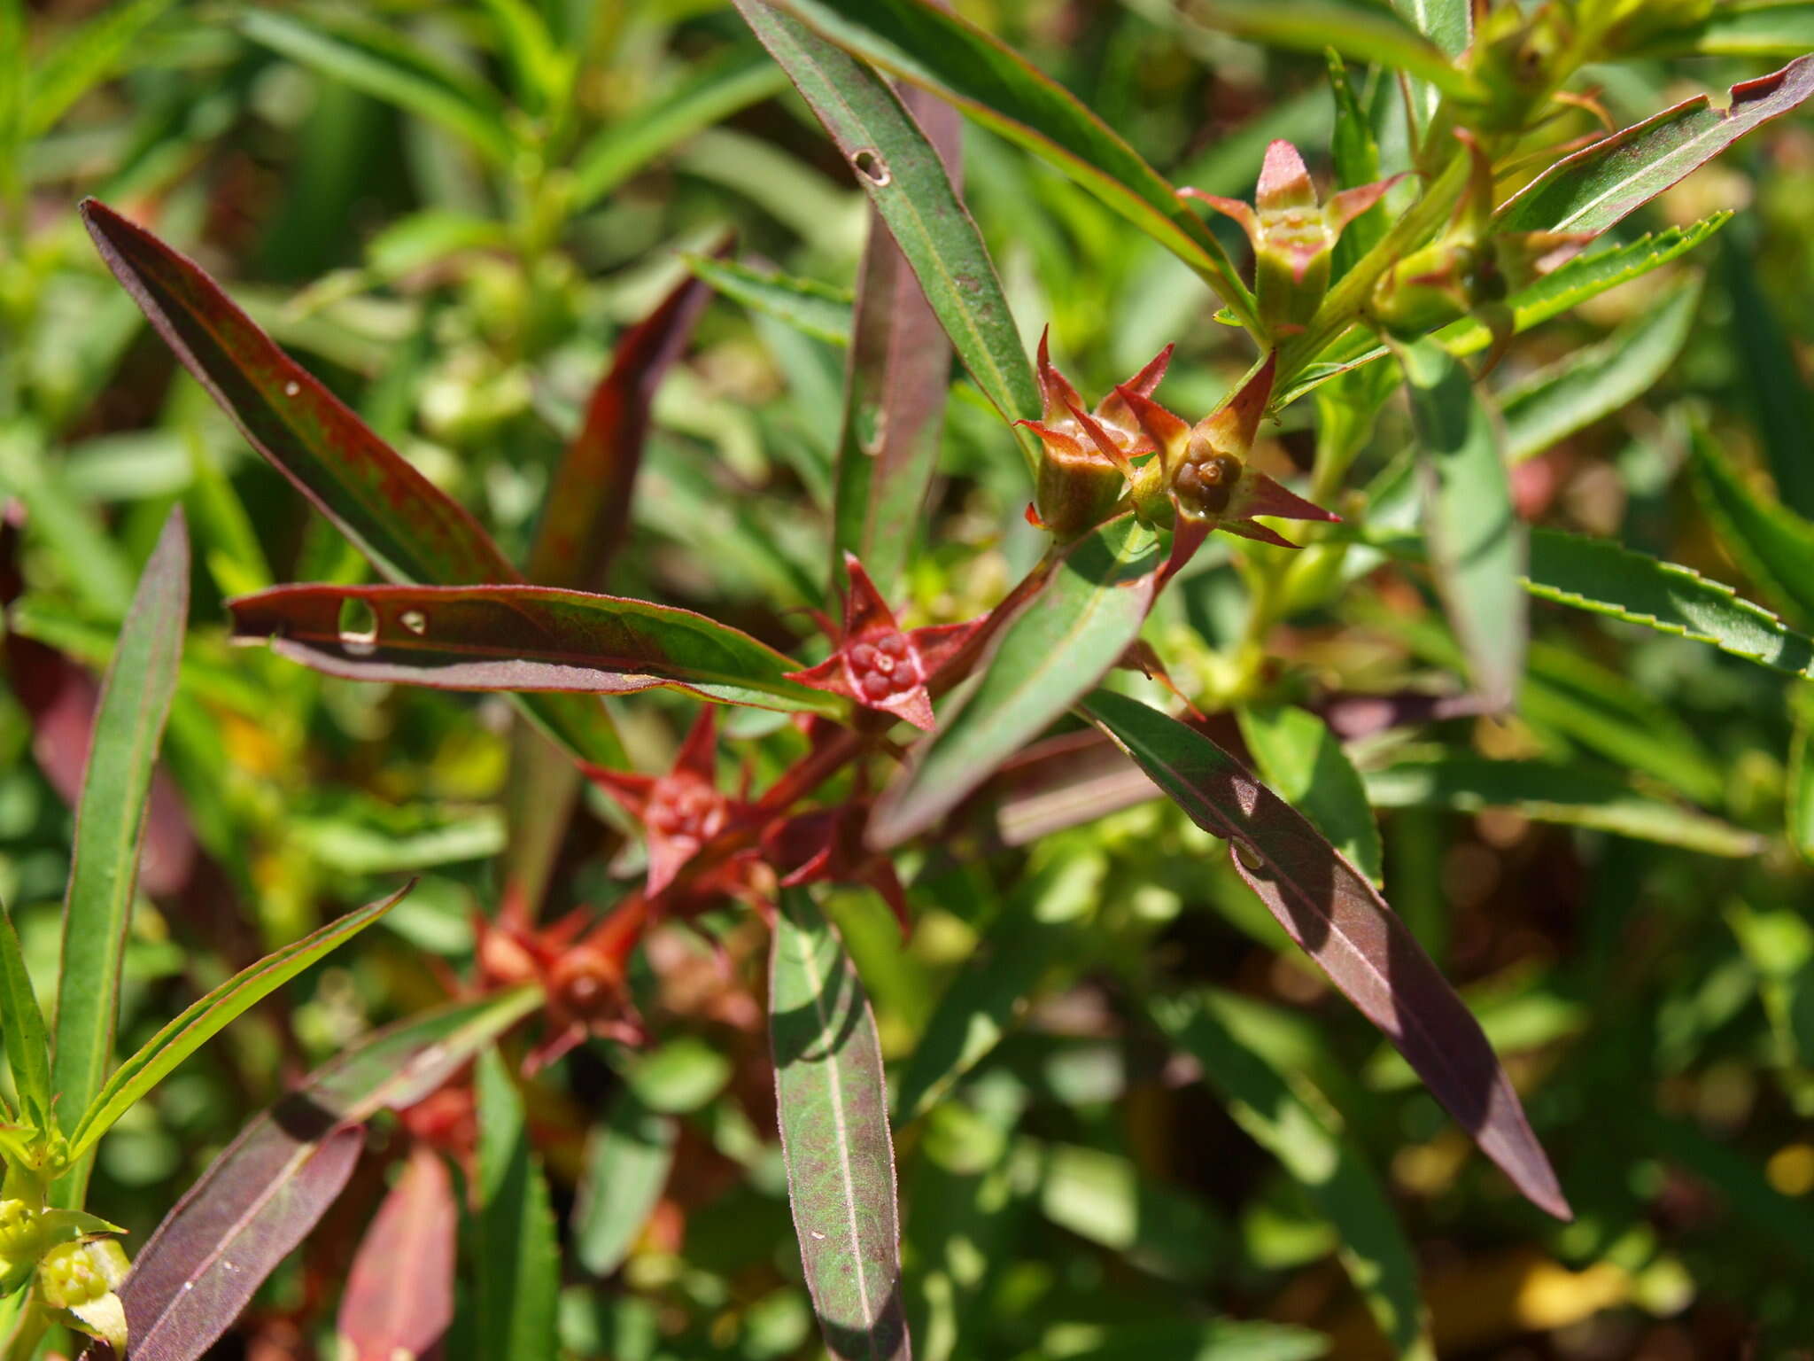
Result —
M 1375 884 L 1384 882 L 1384 851 L 1366 788 L 1330 726 L 1290 704 L 1246 706 L 1237 717 L 1261 778 L 1310 818 L 1355 869 Z

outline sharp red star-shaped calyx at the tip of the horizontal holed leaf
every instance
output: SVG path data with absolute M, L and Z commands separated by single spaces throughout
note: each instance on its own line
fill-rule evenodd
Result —
M 865 708 L 892 713 L 931 731 L 932 695 L 927 680 L 938 675 L 980 621 L 902 630 L 854 553 L 844 555 L 844 568 L 851 590 L 844 597 L 838 646 L 818 666 L 793 671 L 789 679 L 854 699 Z

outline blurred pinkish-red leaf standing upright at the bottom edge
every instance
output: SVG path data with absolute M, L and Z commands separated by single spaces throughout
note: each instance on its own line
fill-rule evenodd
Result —
M 341 1361 L 415 1361 L 441 1341 L 454 1321 L 457 1238 L 454 1180 L 441 1154 L 419 1143 L 346 1270 Z

